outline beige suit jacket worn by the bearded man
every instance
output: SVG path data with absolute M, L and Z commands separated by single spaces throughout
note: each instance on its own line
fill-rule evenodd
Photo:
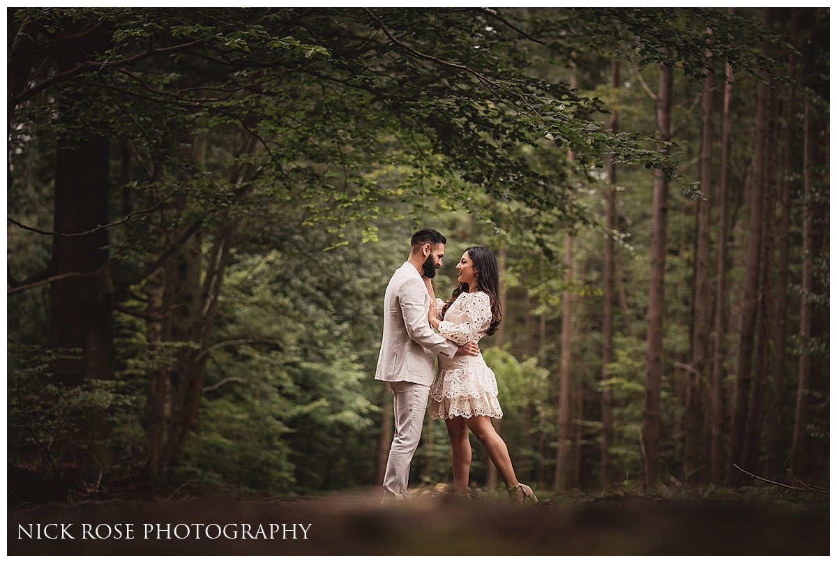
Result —
M 419 271 L 404 262 L 383 298 L 383 338 L 375 379 L 431 385 L 436 354 L 453 358 L 459 346 L 430 328 L 430 296 Z

